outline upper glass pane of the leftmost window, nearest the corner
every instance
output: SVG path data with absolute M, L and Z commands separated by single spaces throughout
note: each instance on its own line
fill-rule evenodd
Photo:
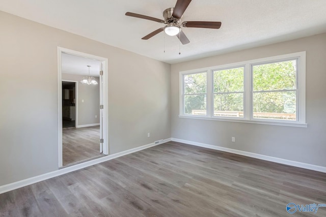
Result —
M 206 93 L 206 72 L 183 76 L 184 94 Z

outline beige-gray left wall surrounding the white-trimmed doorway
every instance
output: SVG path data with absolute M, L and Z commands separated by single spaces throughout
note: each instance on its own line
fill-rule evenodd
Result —
M 111 154 L 171 137 L 169 64 L 4 12 L 0 26 L 0 185 L 58 170 L 58 46 L 108 58 Z

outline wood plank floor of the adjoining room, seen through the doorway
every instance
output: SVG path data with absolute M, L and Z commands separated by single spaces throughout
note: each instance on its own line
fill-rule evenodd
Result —
M 103 155 L 99 144 L 100 126 L 63 129 L 63 166 Z

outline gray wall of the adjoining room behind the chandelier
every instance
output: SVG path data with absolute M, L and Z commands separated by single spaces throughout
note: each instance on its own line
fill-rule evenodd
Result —
M 85 76 L 62 73 L 62 80 L 78 81 L 78 126 L 100 122 L 100 85 L 82 84 L 79 81 L 83 77 Z M 98 77 L 95 80 L 99 83 Z

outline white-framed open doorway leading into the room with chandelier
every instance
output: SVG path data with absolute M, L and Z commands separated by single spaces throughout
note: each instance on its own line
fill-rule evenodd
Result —
M 58 47 L 59 168 L 108 154 L 107 59 Z

